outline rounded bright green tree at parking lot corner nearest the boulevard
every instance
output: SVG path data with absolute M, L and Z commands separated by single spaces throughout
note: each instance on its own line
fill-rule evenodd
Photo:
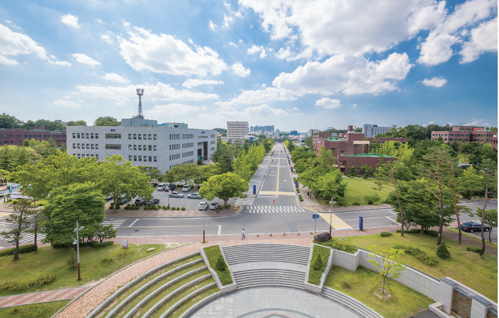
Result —
M 212 176 L 203 183 L 199 194 L 210 201 L 218 197 L 224 201 L 224 208 L 227 207 L 227 200 L 242 195 L 249 190 L 249 184 L 238 175 L 227 172 L 221 175 Z

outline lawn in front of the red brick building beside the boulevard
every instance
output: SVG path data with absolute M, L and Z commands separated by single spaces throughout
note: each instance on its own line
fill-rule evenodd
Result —
M 375 181 L 378 180 L 376 178 L 369 178 L 369 179 L 364 179 L 364 178 L 343 178 L 343 181 L 347 184 L 347 188 L 345 190 L 345 199 L 347 200 L 348 204 L 346 207 L 352 207 L 353 204 L 352 202 L 354 201 L 355 197 L 359 197 L 359 203 L 361 205 L 367 205 L 367 202 L 364 201 L 364 196 L 366 194 L 377 194 L 381 197 L 380 201 L 375 202 L 375 204 L 381 204 L 381 202 L 384 202 L 386 200 L 386 197 L 388 196 L 388 192 L 385 191 L 377 191 L 372 189 L 373 186 L 376 186 Z M 329 201 L 331 201 L 331 198 L 317 198 L 317 202 L 321 205 L 327 205 L 328 207 L 331 206 L 329 204 Z M 333 207 L 339 207 L 340 205 L 333 204 Z

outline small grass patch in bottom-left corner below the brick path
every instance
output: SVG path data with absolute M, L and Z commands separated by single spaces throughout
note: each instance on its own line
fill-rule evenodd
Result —
M 0 308 L 3 318 L 50 318 L 71 300 Z

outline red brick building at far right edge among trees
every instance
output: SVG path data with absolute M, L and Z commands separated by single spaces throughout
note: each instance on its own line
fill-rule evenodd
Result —
M 453 126 L 448 132 L 432 132 L 432 140 L 442 137 L 445 143 L 479 142 L 490 144 L 497 151 L 497 131 L 485 130 L 485 127 Z

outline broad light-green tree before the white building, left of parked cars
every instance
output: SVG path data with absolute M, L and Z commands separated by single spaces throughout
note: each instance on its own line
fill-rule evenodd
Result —
M 197 166 L 194 164 L 194 166 Z M 121 197 L 141 197 L 150 199 L 154 189 L 149 178 L 142 174 L 131 161 L 125 161 L 120 155 L 106 157 L 100 162 L 95 173 L 96 189 L 102 194 L 113 196 L 113 211 L 116 211 L 116 200 Z

